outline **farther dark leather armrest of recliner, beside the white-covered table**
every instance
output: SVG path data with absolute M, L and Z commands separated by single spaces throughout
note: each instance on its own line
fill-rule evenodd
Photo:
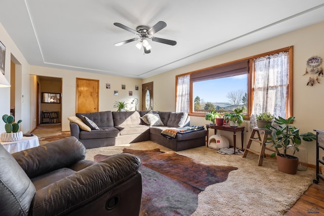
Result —
M 68 137 L 13 153 L 12 156 L 32 179 L 85 159 L 86 147 L 75 137 Z

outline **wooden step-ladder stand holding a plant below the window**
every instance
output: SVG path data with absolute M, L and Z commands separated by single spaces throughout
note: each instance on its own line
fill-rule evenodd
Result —
M 257 134 L 257 137 L 255 137 Z M 267 142 L 267 138 L 271 138 L 271 131 L 268 129 L 254 128 L 249 139 L 249 143 L 244 150 L 243 157 L 247 157 L 248 152 L 255 153 L 259 155 L 258 166 L 262 166 L 263 158 L 265 158 L 265 150 L 269 150 L 272 152 L 276 152 L 274 149 L 267 148 L 265 143 Z M 260 152 L 250 149 L 252 142 L 257 142 L 261 145 Z

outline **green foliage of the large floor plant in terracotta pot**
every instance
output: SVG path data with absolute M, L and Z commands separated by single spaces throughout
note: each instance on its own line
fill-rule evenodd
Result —
M 295 119 L 295 116 L 289 117 L 288 119 L 278 117 L 274 118 L 274 122 L 277 126 L 267 125 L 267 129 L 272 130 L 272 138 L 268 138 L 271 142 L 267 142 L 266 144 L 272 143 L 272 147 L 277 150 L 277 153 L 271 154 L 271 157 L 275 155 L 290 158 L 291 155 L 287 154 L 287 149 L 293 148 L 294 153 L 299 151 L 298 146 L 301 144 L 301 137 L 304 141 L 313 141 L 316 140 L 316 135 L 313 133 L 306 133 L 299 135 L 299 128 L 291 125 Z M 280 153 L 280 151 L 282 153 Z

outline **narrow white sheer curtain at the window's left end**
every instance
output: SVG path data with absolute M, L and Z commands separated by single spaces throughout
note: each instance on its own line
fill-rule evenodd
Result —
M 176 112 L 189 112 L 190 75 L 178 76 Z

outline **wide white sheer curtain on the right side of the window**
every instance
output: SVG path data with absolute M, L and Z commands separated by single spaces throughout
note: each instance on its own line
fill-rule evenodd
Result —
M 256 127 L 255 115 L 263 112 L 286 118 L 289 52 L 254 59 L 253 65 L 255 82 L 251 128 Z

